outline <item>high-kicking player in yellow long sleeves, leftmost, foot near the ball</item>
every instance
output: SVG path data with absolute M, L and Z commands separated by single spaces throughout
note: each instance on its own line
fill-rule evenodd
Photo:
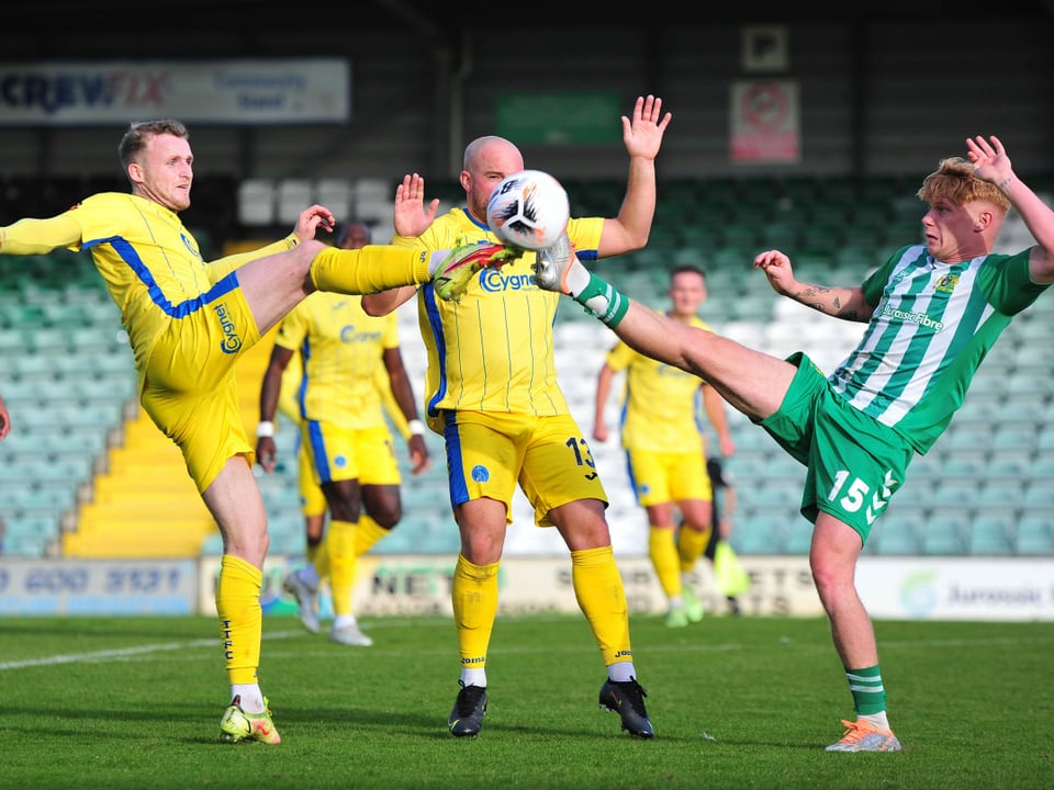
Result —
M 317 228 L 333 226 L 329 210 L 316 205 L 281 241 L 210 263 L 178 215 L 190 206 L 193 182 L 186 126 L 133 123 L 117 155 L 131 194 L 99 193 L 57 216 L 0 227 L 0 253 L 90 251 L 128 334 L 139 402 L 179 445 L 223 537 L 216 612 L 231 702 L 220 736 L 278 744 L 257 678 L 267 514 L 242 426 L 235 365 L 316 290 L 362 294 L 434 281 L 440 295 L 453 295 L 502 250 L 337 250 L 314 240 Z

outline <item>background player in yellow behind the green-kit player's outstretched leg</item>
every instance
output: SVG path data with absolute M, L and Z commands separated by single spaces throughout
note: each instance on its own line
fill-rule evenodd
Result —
M 698 317 L 706 301 L 706 275 L 696 267 L 670 273 L 666 315 L 681 324 L 711 331 Z M 607 441 L 604 411 L 617 373 L 626 371 L 621 442 L 637 501 L 648 515 L 648 555 L 666 596 L 666 625 L 683 628 L 703 619 L 703 603 L 692 587 L 692 572 L 710 539 L 713 490 L 706 472 L 705 440 L 696 424 L 702 398 L 720 451 L 736 451 L 725 402 L 697 376 L 637 353 L 619 341 L 608 351 L 596 381 L 593 438 Z M 675 508 L 681 510 L 677 531 Z

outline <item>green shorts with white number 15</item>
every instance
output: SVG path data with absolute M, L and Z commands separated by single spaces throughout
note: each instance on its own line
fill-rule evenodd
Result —
M 806 354 L 787 358 L 798 372 L 780 409 L 759 425 L 808 469 L 801 515 L 830 514 L 866 543 L 875 520 L 904 485 L 915 450 L 899 433 L 834 392 Z

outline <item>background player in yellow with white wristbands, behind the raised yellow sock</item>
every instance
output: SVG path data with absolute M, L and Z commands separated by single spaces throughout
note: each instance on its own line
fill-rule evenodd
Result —
M 361 224 L 345 226 L 338 236 L 344 249 L 359 249 L 369 240 L 369 228 Z M 257 458 L 267 472 L 276 466 L 273 420 L 283 372 L 298 351 L 302 377 L 295 409 L 313 484 L 302 472 L 310 562 L 290 574 L 284 586 L 296 598 L 304 627 L 316 632 L 318 583 L 328 574 L 334 611 L 329 639 L 369 646 L 373 641 L 359 629 L 352 608 L 356 565 L 402 518 L 399 462 L 379 383 L 386 382 L 410 427 L 413 473 L 430 465 L 400 351 L 397 316 L 368 316 L 360 297 L 319 292 L 282 320 L 260 386 Z M 325 511 L 318 511 L 314 486 L 322 488 L 330 517 L 324 541 Z

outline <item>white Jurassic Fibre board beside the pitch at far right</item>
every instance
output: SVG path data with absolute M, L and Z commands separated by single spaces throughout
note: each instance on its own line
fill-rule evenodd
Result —
M 865 557 L 856 588 L 873 618 L 1054 620 L 1054 557 Z

